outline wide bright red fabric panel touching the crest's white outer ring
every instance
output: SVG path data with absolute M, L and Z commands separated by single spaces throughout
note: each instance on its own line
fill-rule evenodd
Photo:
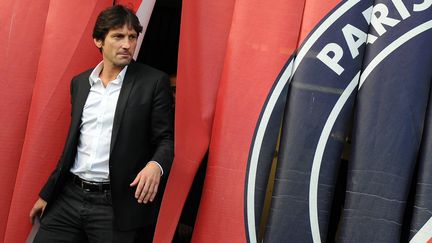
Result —
M 298 0 L 236 1 L 193 242 L 246 241 L 249 148 L 266 97 L 297 47 L 303 8 Z

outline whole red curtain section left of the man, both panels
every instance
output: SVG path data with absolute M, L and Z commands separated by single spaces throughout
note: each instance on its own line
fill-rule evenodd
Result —
M 100 61 L 91 32 L 97 14 L 111 4 L 11 1 L 1 14 L 6 21 L 2 23 L 8 23 L 2 34 L 9 37 L 1 51 L 6 57 L 0 58 L 2 73 L 7 74 L 0 91 L 0 142 L 5 149 L 0 186 L 7 192 L 1 199 L 6 209 L 0 218 L 4 242 L 24 242 L 27 237 L 28 214 L 66 137 L 70 80 Z

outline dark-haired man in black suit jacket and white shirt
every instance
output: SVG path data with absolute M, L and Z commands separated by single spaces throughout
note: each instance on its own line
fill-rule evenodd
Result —
M 35 242 L 152 241 L 173 158 L 172 97 L 165 74 L 132 60 L 141 31 L 123 6 L 99 14 L 103 61 L 72 79 L 63 154 L 30 212 L 41 215 Z

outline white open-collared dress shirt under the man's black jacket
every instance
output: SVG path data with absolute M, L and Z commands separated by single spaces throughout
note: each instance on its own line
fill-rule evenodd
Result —
M 90 74 L 90 92 L 84 105 L 75 163 L 71 172 L 89 181 L 109 180 L 111 133 L 117 100 L 127 66 L 104 87 L 99 74 L 103 62 Z

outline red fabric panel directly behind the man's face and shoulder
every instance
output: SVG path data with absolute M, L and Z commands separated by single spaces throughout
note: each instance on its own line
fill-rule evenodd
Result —
M 51 1 L 25 141 L 4 242 L 24 242 L 28 214 L 61 153 L 70 120 L 73 75 L 101 56 L 91 37 L 97 14 L 112 1 Z

